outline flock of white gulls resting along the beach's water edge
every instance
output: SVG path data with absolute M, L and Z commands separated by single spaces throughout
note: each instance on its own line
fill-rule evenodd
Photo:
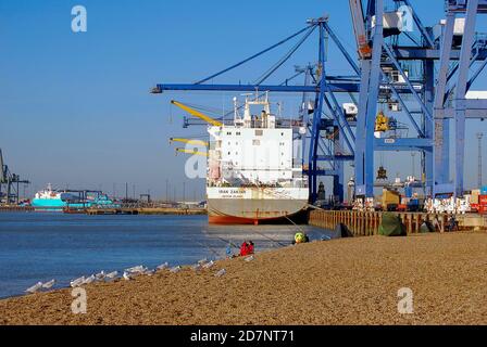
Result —
M 249 257 L 246 257 L 244 260 L 251 261 L 253 259 L 254 259 L 253 256 L 249 256 Z M 199 272 L 203 269 L 211 269 L 214 266 L 215 266 L 215 262 L 213 260 L 208 260 L 207 258 L 204 258 L 204 259 L 198 260 L 198 262 L 195 264 L 193 266 L 191 266 L 190 268 L 195 272 Z M 168 270 L 171 273 L 177 273 L 177 272 L 182 271 L 183 268 L 180 266 L 175 266 L 175 267 L 171 268 L 170 264 L 167 261 L 164 264 L 161 264 L 160 266 L 158 266 L 155 269 L 152 269 L 152 270 L 145 266 L 139 265 L 136 267 L 125 269 L 121 277 L 118 277 L 118 271 L 113 271 L 113 272 L 109 272 L 109 273 L 101 271 L 99 273 L 91 274 L 89 277 L 83 275 L 78 279 L 70 281 L 70 286 L 75 288 L 75 287 L 80 287 L 80 286 L 84 286 L 84 285 L 87 285 L 90 283 L 95 283 L 95 282 L 111 282 L 116 279 L 123 279 L 125 281 L 130 281 L 139 275 L 149 275 L 150 277 L 150 275 L 154 274 L 155 272 L 162 271 L 162 270 Z M 225 274 L 226 274 L 226 270 L 220 269 L 214 275 L 217 278 L 221 278 Z M 37 282 L 33 286 L 28 287 L 25 292 L 27 294 L 38 293 L 43 290 L 52 288 L 54 284 L 55 284 L 55 280 L 51 280 L 46 283 Z

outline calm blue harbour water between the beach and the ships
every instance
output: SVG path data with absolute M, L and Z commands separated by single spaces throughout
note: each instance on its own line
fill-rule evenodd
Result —
M 292 241 L 295 226 L 209 226 L 205 216 L 85 216 L 0 214 L 0 297 L 22 295 L 38 281 L 57 280 L 57 287 L 101 270 L 123 271 L 190 265 L 224 257 L 229 242 L 252 240 L 255 250 Z M 299 227 L 311 240 L 322 229 Z M 233 247 L 233 252 L 238 249 Z

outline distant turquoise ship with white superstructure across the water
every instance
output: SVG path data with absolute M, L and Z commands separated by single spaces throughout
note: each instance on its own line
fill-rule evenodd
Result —
M 80 200 L 79 195 L 76 195 L 70 191 L 55 191 L 51 184 L 48 184 L 47 189 L 36 193 L 32 201 L 32 206 L 36 209 L 50 209 L 62 210 L 64 207 L 70 208 L 89 208 L 97 206 L 111 206 L 120 207 L 115 204 L 107 194 L 100 192 L 87 192 L 85 200 Z

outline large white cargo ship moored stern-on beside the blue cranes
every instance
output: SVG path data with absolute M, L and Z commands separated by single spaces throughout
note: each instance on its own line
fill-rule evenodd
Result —
M 309 189 L 300 138 L 305 128 L 272 114 L 267 93 L 246 95 L 244 106 L 235 98 L 234 108 L 230 124 L 208 128 L 209 222 L 258 224 L 303 211 Z

